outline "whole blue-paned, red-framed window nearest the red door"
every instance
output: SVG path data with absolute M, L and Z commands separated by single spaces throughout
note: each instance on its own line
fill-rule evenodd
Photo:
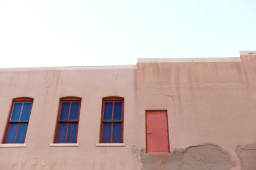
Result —
M 123 143 L 123 98 L 102 99 L 100 143 Z

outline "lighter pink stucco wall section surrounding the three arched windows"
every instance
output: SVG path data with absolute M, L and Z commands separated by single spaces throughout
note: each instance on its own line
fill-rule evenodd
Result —
M 68 69 L 7 69 L 0 71 L 0 134 L 3 136 L 11 101 L 34 98 L 25 143 L 0 148 L 1 169 L 137 169 L 134 142 L 134 66 Z M 59 98 L 81 97 L 79 147 L 49 147 L 53 142 Z M 96 147 L 102 97 L 125 98 L 125 147 Z

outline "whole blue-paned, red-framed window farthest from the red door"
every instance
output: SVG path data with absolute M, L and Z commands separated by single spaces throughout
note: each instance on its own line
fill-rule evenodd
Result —
M 20 97 L 13 99 L 3 143 L 24 143 L 33 99 Z

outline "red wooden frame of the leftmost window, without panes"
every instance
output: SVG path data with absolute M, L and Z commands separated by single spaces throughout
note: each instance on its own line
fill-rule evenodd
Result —
M 16 135 L 15 135 L 15 139 L 14 139 L 14 142 L 13 143 L 16 143 L 16 137 L 18 135 L 18 130 L 19 130 L 19 124 L 21 123 L 25 123 L 27 124 L 27 129 L 28 129 L 28 122 L 30 120 L 30 114 L 31 114 L 31 110 L 32 110 L 32 105 L 33 105 L 33 101 L 34 99 L 31 98 L 31 97 L 17 97 L 17 98 L 14 98 L 12 103 L 11 103 L 11 108 L 10 108 L 10 111 L 9 111 L 9 116 L 7 118 L 7 122 L 6 122 L 6 126 L 5 126 L 5 133 L 3 135 L 3 139 L 2 139 L 2 143 L 6 143 L 6 138 L 7 138 L 7 134 L 9 132 L 9 128 L 10 128 L 10 124 L 18 124 L 18 127 L 16 129 Z M 13 109 L 14 109 L 14 103 L 15 102 L 22 102 L 22 103 L 26 103 L 26 102 L 31 102 L 31 108 L 30 108 L 30 113 L 28 115 L 28 120 L 27 121 L 11 121 L 11 114 L 13 113 Z M 27 135 L 27 130 L 26 130 L 26 133 L 25 133 L 25 137 L 24 137 L 24 142 L 26 140 L 26 135 Z M 23 143 L 24 143 L 23 142 Z

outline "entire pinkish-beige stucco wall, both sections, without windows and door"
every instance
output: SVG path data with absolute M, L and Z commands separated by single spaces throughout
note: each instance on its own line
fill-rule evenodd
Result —
M 136 66 L 1 69 L 1 137 L 12 99 L 34 98 L 27 147 L 0 147 L 1 169 L 241 169 L 240 158 L 256 155 L 255 85 L 255 55 L 241 61 L 141 59 Z M 79 146 L 49 147 L 65 96 L 82 98 Z M 125 98 L 124 147 L 96 147 L 106 96 Z M 168 112 L 171 151 L 157 158 L 144 154 L 145 110 L 151 109 Z M 246 147 L 255 152 L 243 152 Z M 191 155 L 209 160 L 202 165 Z M 225 162 L 216 160 L 220 156 Z

